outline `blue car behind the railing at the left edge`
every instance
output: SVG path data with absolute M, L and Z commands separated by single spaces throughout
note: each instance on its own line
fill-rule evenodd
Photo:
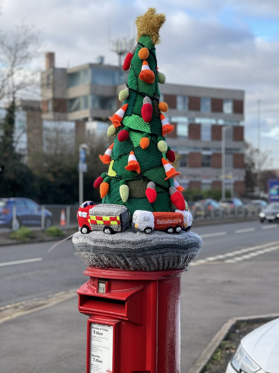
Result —
M 15 217 L 13 219 L 13 211 Z M 45 228 L 52 225 L 52 213 L 44 209 Z M 0 198 L 0 228 L 15 231 L 20 226 L 35 227 L 42 225 L 42 207 L 29 198 Z

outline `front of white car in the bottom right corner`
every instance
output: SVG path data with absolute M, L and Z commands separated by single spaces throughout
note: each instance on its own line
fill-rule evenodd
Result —
M 279 318 L 272 320 L 240 341 L 226 373 L 279 372 Z

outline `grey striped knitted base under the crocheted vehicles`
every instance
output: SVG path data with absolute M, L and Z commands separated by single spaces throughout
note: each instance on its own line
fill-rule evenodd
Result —
M 198 253 L 202 239 L 192 232 L 147 234 L 129 227 L 113 235 L 77 232 L 73 244 L 81 259 L 91 266 L 153 271 L 186 267 Z

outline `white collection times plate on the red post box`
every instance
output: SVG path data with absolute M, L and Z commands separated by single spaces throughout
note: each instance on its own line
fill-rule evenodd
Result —
M 113 373 L 113 325 L 91 323 L 90 373 Z

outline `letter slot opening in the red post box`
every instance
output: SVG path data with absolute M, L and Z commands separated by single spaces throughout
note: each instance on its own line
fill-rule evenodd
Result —
M 80 307 L 88 311 L 115 313 L 125 316 L 126 301 L 94 295 L 80 294 Z

